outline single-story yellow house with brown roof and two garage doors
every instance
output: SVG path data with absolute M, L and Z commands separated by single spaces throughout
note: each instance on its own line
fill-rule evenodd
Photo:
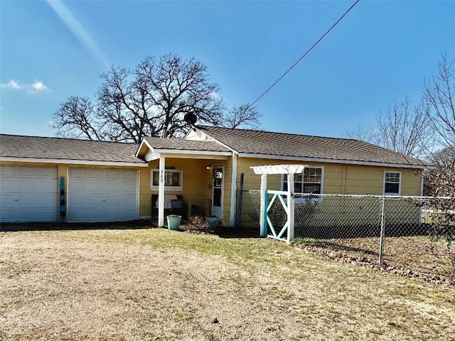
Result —
M 177 195 L 191 212 L 235 226 L 237 189 L 259 190 L 250 167 L 306 165 L 296 192 L 422 195 L 424 164 L 353 139 L 193 126 L 184 139 L 141 144 L 0 134 L 0 222 L 149 218 Z M 286 188 L 272 175 L 270 189 Z M 63 200 L 63 202 L 61 201 Z

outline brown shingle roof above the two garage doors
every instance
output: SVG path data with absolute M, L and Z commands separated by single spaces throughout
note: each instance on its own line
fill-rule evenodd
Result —
M 0 134 L 0 156 L 144 163 L 138 144 Z

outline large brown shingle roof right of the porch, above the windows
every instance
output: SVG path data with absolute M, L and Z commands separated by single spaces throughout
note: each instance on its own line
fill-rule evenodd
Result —
M 199 126 L 198 129 L 239 153 L 412 166 L 424 164 L 416 158 L 410 158 L 401 153 L 353 139 L 228 129 L 215 126 Z

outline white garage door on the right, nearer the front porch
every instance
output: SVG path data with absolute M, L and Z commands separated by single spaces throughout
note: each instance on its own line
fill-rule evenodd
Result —
M 137 171 L 70 168 L 69 221 L 135 220 L 137 201 Z

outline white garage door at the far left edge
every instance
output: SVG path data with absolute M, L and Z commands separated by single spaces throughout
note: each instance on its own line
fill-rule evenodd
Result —
M 57 167 L 0 166 L 0 221 L 55 222 Z

